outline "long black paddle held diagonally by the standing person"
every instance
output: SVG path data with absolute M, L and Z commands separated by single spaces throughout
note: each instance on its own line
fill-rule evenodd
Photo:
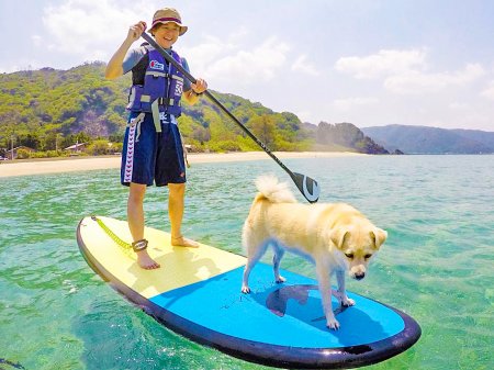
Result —
M 147 41 L 155 49 L 157 49 L 165 57 L 165 59 L 168 60 L 168 63 L 171 63 L 180 72 L 182 72 L 183 76 L 186 76 L 189 81 L 191 81 L 192 83 L 197 82 L 195 78 L 191 74 L 189 74 L 177 60 L 175 60 L 173 57 L 171 55 L 169 55 L 161 46 L 159 46 L 158 43 L 156 43 L 156 41 L 151 36 L 149 36 L 146 32 L 143 32 L 143 34 L 141 36 L 145 41 Z M 224 113 L 226 113 L 226 115 L 228 115 L 232 119 L 232 121 L 234 121 L 237 125 L 239 125 L 240 128 L 244 130 L 244 132 L 252 141 L 255 141 L 257 145 L 259 145 L 262 148 L 262 150 L 265 150 L 272 159 L 274 159 L 274 161 L 282 169 L 285 170 L 285 172 L 288 175 L 290 175 L 293 182 L 295 182 L 295 186 L 301 191 L 302 195 L 304 195 L 304 198 L 310 203 L 317 202 L 317 200 L 319 199 L 319 192 L 321 192 L 317 181 L 310 178 L 308 176 L 297 173 L 297 172 L 292 172 L 287 166 L 283 165 L 283 162 L 280 159 L 278 159 L 278 157 L 276 155 L 273 155 L 271 153 L 271 150 L 269 150 L 266 147 L 266 145 L 261 141 L 259 141 L 240 121 L 238 121 L 238 119 L 235 115 L 233 115 L 232 112 L 229 112 L 209 90 L 205 90 L 204 94 L 211 101 L 213 101 Z

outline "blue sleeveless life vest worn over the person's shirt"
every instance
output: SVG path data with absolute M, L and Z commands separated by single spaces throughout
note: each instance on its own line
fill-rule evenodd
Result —
M 146 47 L 146 46 L 145 46 Z M 183 91 L 183 75 L 167 64 L 158 51 L 146 47 L 148 63 L 144 85 L 133 85 L 128 94 L 127 110 L 132 112 L 161 112 L 179 116 L 181 114 L 180 99 Z M 171 51 L 175 60 L 181 64 L 180 56 Z

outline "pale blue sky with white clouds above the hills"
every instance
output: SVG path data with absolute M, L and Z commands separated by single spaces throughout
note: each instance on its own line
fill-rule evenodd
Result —
M 0 72 L 106 61 L 164 7 L 213 90 L 314 124 L 494 132 L 491 0 L 2 0 Z

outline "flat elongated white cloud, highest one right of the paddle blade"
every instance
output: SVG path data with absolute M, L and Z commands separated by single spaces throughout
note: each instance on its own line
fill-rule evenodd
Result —
M 336 70 L 350 74 L 358 79 L 370 79 L 401 74 L 426 67 L 425 49 L 380 51 L 366 57 L 343 57 L 336 61 Z

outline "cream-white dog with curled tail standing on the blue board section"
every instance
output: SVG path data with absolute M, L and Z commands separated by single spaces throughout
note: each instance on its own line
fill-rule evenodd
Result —
M 294 251 L 315 264 L 326 325 L 332 329 L 339 328 L 332 309 L 330 276 L 335 272 L 338 282 L 338 291 L 333 292 L 335 296 L 343 305 L 353 305 L 355 301 L 346 294 L 345 271 L 353 279 L 363 279 L 369 260 L 388 233 L 345 203 L 297 203 L 288 186 L 274 177 L 260 177 L 256 186 L 259 193 L 254 199 L 242 235 L 248 258 L 242 292 L 250 293 L 250 271 L 268 246 L 274 250 L 274 279 L 279 283 L 285 281 L 279 272 L 284 250 Z

